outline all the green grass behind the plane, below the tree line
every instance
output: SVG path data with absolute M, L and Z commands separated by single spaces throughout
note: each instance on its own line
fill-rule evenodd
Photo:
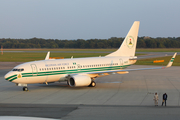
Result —
M 32 52 L 4 52 L 3 55 L 0 55 L 0 62 L 28 62 L 35 60 L 43 60 L 47 53 L 35 53 L 33 51 L 106 51 L 113 52 L 116 49 L 6 49 L 6 50 L 15 50 L 15 51 L 32 51 Z M 139 52 L 178 52 L 180 49 L 138 49 Z M 50 57 L 64 57 L 64 58 L 82 58 L 82 57 L 98 57 L 105 56 L 108 53 L 51 53 Z M 136 54 L 144 55 L 144 54 Z M 138 60 L 136 65 L 167 65 L 172 56 L 169 57 L 161 57 L 161 58 L 152 58 L 152 59 L 144 59 Z M 154 60 L 165 60 L 163 63 L 153 63 Z M 173 65 L 180 66 L 180 56 L 178 55 Z

